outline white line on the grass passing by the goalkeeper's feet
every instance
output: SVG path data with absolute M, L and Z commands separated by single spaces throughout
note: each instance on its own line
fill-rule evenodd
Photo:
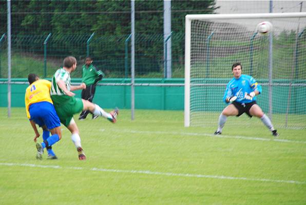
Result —
M 101 129 L 100 131 L 105 131 Z M 306 144 L 306 141 L 290 140 L 290 139 L 278 139 L 278 138 L 262 138 L 262 137 L 246 137 L 246 136 L 232 136 L 232 135 L 214 135 L 207 133 L 193 133 L 193 132 L 164 132 L 164 131 L 139 131 L 139 130 L 111 130 L 111 132 L 120 133 L 135 133 L 135 134 L 168 134 L 168 135 L 181 135 L 181 136 L 205 136 L 205 137 L 216 137 L 216 138 L 232 138 L 232 139 L 246 139 L 246 140 L 258 140 L 258 141 L 277 141 L 277 142 L 290 142 L 297 144 Z

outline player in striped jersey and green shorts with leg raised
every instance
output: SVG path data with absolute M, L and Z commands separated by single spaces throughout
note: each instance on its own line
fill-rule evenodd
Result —
M 73 115 L 88 110 L 94 115 L 103 116 L 109 121 L 115 123 L 117 121 L 119 110 L 116 108 L 112 112 L 107 113 L 97 104 L 93 104 L 85 99 L 74 97 L 75 94 L 71 91 L 86 89 L 84 83 L 79 86 L 71 86 L 70 74 L 75 71 L 75 69 L 75 57 L 67 56 L 64 59 L 63 68 L 57 70 L 52 77 L 50 94 L 56 113 L 58 113 L 62 124 L 71 132 L 71 139 L 78 151 L 79 159 L 85 160 L 86 156 L 81 146 L 79 128 L 75 124 Z

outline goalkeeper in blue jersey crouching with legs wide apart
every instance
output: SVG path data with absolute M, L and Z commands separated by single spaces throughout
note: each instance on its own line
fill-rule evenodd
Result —
M 256 95 L 261 93 L 261 86 L 257 84 L 252 76 L 241 74 L 242 66 L 240 63 L 233 64 L 232 72 L 234 78 L 228 82 L 223 97 L 225 103 L 230 103 L 230 105 L 224 108 L 220 114 L 218 129 L 214 134 L 219 135 L 222 133 L 227 116 L 236 115 L 239 117 L 246 113 L 250 117 L 256 116 L 260 118 L 263 124 L 272 132 L 272 135 L 278 136 L 277 130 L 274 129 L 270 118 L 256 104 Z

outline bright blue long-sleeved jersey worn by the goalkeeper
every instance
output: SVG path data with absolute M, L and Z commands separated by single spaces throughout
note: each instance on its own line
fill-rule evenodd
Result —
M 256 97 L 253 97 L 252 100 L 248 100 L 245 99 L 244 96 L 255 90 L 258 90 L 259 93 L 261 93 L 261 86 L 252 76 L 242 74 L 238 79 L 234 77 L 230 82 L 228 82 L 223 96 L 223 101 L 227 103 L 226 98 L 236 96 L 236 101 L 238 103 L 251 103 L 256 100 Z

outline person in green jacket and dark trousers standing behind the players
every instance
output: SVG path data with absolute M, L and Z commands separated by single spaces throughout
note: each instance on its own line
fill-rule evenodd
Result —
M 95 93 L 95 86 L 97 83 L 104 77 L 104 73 L 101 70 L 97 70 L 92 65 L 92 58 L 86 57 L 85 65 L 82 67 L 82 83 L 86 85 L 86 88 L 82 90 L 82 99 L 88 100 L 92 102 L 94 93 Z M 91 113 L 88 110 L 83 111 L 80 114 L 79 119 L 85 119 L 87 115 Z M 92 114 L 92 119 L 97 118 L 99 115 Z

